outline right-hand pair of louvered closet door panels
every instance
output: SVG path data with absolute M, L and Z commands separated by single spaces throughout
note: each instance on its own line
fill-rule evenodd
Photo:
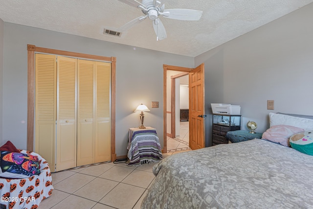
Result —
M 110 69 L 110 63 L 78 60 L 77 166 L 111 160 Z

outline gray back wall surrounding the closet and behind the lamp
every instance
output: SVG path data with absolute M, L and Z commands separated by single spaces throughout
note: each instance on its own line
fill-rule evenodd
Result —
M 4 23 L 3 142 L 26 149 L 27 44 L 116 57 L 116 155 L 127 154 L 128 131 L 140 125 L 135 108 L 143 103 L 145 126 L 157 129 L 163 147 L 163 64 L 191 68 L 194 58 L 135 48 L 13 23 Z M 158 101 L 159 108 L 151 108 Z

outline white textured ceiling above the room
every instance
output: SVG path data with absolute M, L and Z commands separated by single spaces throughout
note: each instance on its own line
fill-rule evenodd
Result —
M 141 2 L 141 0 L 138 0 Z M 121 37 L 103 35 L 143 15 L 118 0 L 0 0 L 0 19 L 52 31 L 195 57 L 313 0 L 165 0 L 165 9 L 203 11 L 200 21 L 160 17 L 167 38 L 156 41 L 146 19 Z

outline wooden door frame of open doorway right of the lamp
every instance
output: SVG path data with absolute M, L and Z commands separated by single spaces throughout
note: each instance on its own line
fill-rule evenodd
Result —
M 187 72 L 189 74 L 189 72 L 191 70 L 193 70 L 193 68 L 184 68 L 184 67 L 178 67 L 178 66 L 163 65 L 163 153 L 167 153 L 167 116 L 166 116 L 167 115 L 167 108 L 166 108 L 166 104 L 167 104 L 167 102 L 166 102 L 167 70 Z M 174 85 L 175 85 L 175 83 L 174 83 Z M 173 87 L 173 82 L 172 82 L 172 87 Z M 173 93 L 173 92 L 171 92 L 171 93 Z M 175 97 L 174 97 L 174 99 L 175 99 Z M 174 100 L 174 102 L 175 102 L 175 100 Z M 173 111 L 173 105 L 171 107 L 171 111 Z M 171 123 L 173 123 L 172 117 L 171 117 Z M 174 117 L 175 117 L 175 105 L 174 105 Z M 175 120 L 175 118 L 174 118 L 174 120 Z

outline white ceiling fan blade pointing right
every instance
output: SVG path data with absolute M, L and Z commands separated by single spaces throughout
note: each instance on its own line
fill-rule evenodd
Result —
M 199 21 L 202 16 L 202 11 L 194 9 L 164 9 L 164 18 L 170 18 L 182 21 Z

